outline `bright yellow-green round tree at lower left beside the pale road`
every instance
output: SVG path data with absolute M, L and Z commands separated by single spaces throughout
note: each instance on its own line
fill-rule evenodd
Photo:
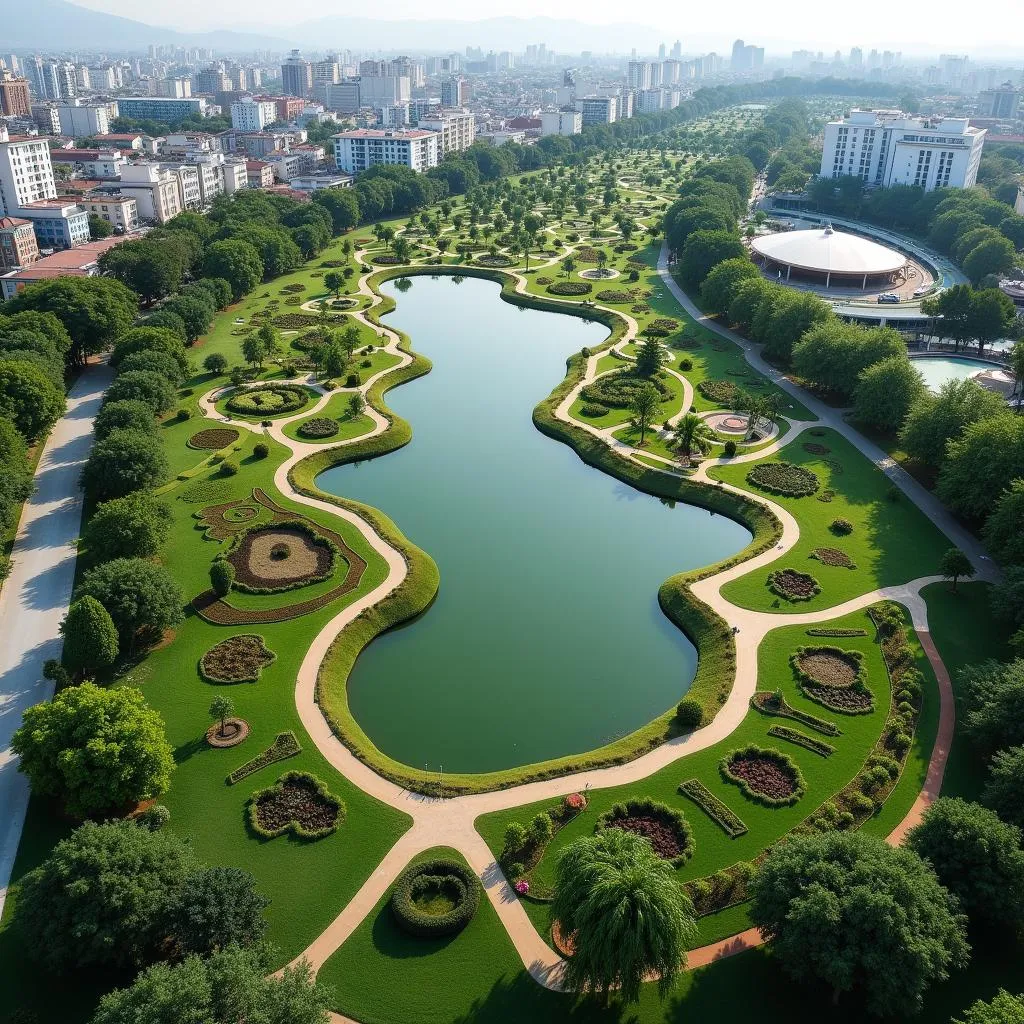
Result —
M 11 750 L 33 793 L 58 798 L 76 817 L 159 797 L 174 770 L 163 719 L 130 686 L 86 682 L 27 709 Z

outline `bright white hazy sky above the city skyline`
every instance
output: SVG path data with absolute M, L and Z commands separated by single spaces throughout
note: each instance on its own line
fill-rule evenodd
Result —
M 73 0 L 84 7 L 121 14 L 153 25 L 183 31 L 233 29 L 264 31 L 325 15 L 423 19 L 427 11 L 438 17 L 476 19 L 511 14 L 521 17 L 547 15 L 594 24 L 634 22 L 653 26 L 671 42 L 682 39 L 684 49 L 716 49 L 723 52 L 736 36 L 766 44 L 769 50 L 786 52 L 812 46 L 844 51 L 850 46 L 901 49 L 904 53 L 983 51 L 1006 56 L 1022 54 L 1024 40 L 1011 29 L 1009 4 L 965 7 L 957 0 L 932 0 L 928 4 L 894 0 L 860 0 L 853 6 L 822 0 L 731 0 L 727 4 L 680 3 L 679 0 L 648 0 L 624 5 L 621 0 L 589 0 L 586 4 L 554 5 L 550 0 L 446 0 L 440 7 L 425 8 L 422 0 L 389 0 L 380 4 L 356 4 L 353 0 L 174 0 L 171 4 L 140 6 L 137 0 Z M 1009 33 L 1008 33 L 1008 30 Z M 541 41 L 541 40 L 539 40 Z M 692 41 L 692 42 L 691 42 Z M 467 39 L 465 45 L 472 42 Z M 382 40 L 386 46 L 386 40 Z M 455 47 L 458 45 L 454 43 Z M 632 43 L 623 39 L 622 48 Z

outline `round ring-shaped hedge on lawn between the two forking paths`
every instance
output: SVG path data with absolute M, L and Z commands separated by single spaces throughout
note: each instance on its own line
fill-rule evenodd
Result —
M 411 864 L 391 892 L 398 927 L 424 939 L 461 932 L 479 903 L 479 879 L 462 862 L 440 857 Z

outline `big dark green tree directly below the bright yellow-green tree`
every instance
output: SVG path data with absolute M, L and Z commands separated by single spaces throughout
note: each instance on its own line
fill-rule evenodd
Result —
M 96 689 L 65 694 L 85 686 Z M 166 828 L 87 821 L 22 880 L 23 941 L 53 970 L 144 964 L 163 938 L 168 899 L 194 866 L 190 846 Z

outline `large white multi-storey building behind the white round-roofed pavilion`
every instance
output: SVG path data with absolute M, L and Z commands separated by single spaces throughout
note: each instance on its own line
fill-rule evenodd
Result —
M 851 111 L 825 125 L 820 175 L 856 175 L 869 185 L 970 188 L 985 130 L 967 118 L 920 119 L 899 111 Z

